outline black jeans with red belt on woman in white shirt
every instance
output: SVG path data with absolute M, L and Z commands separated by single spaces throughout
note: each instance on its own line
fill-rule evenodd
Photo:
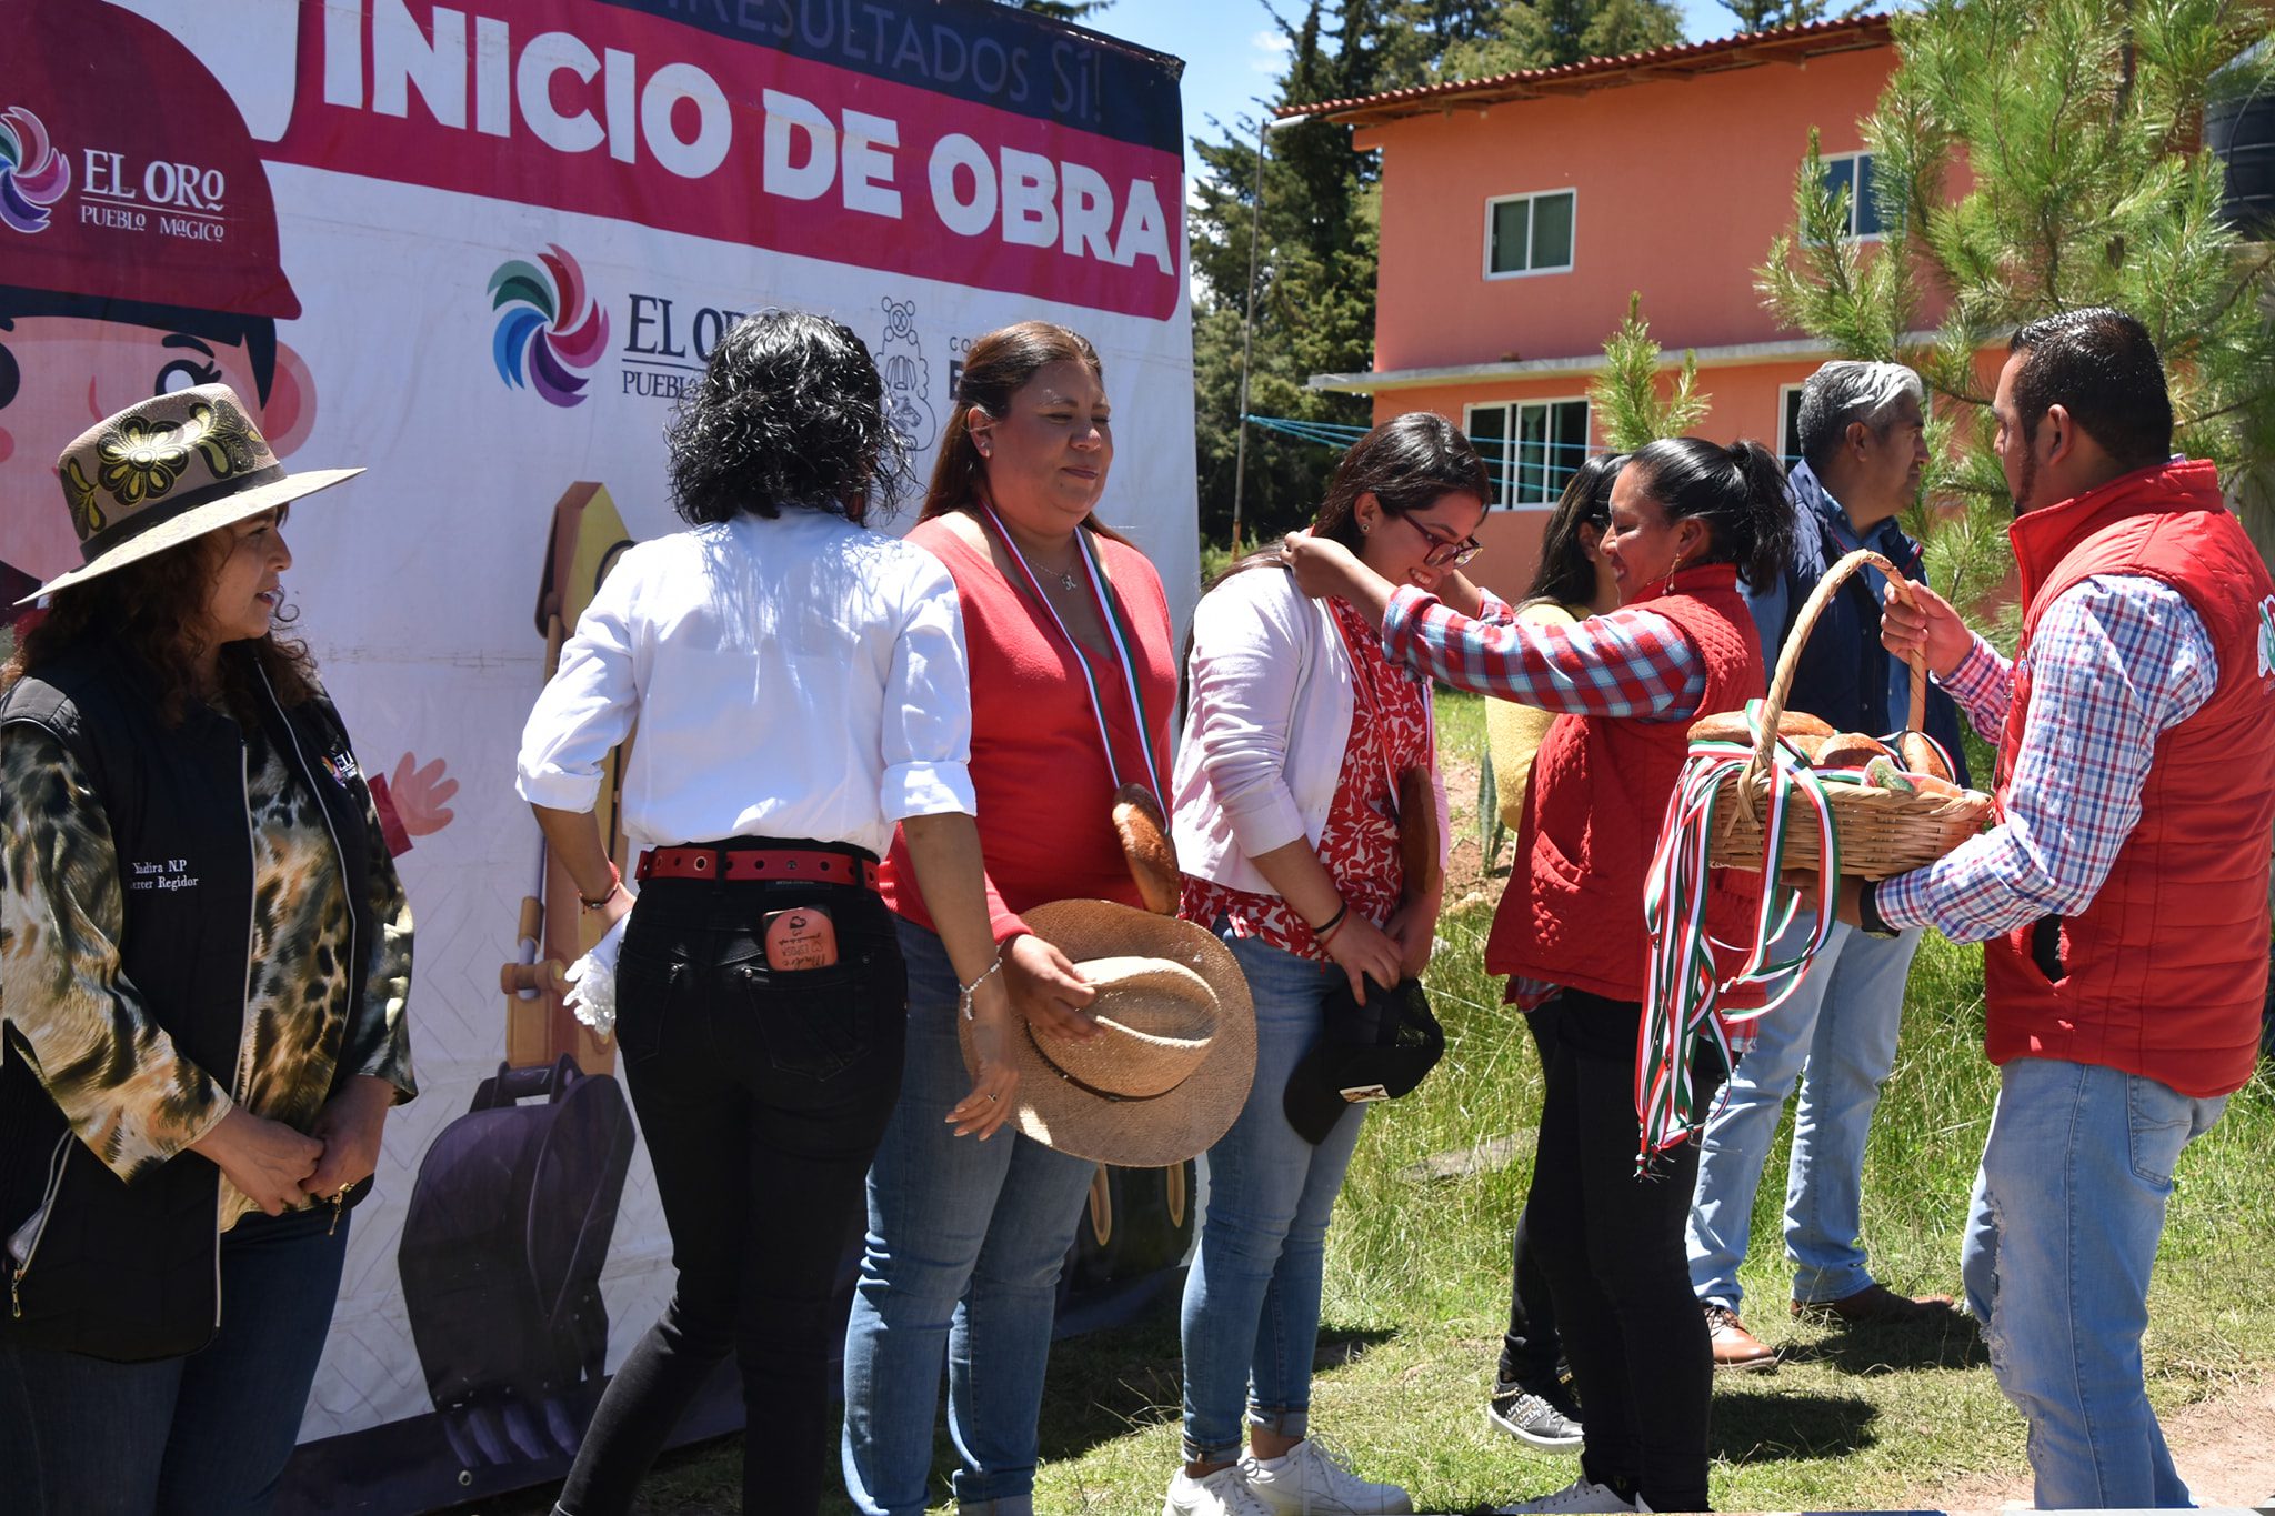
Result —
M 830 909 L 837 964 L 774 971 L 762 923 L 803 905 Z M 901 1093 L 908 973 L 892 914 L 853 884 L 651 880 L 626 927 L 617 1007 L 680 1277 L 610 1380 L 560 1511 L 630 1511 L 728 1352 L 746 1416 L 742 1509 L 814 1511 L 837 1436 L 839 1284 Z

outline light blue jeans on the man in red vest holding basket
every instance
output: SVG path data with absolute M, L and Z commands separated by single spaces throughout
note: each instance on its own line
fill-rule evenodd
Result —
M 2189 1505 L 2141 1332 L 2173 1168 L 2223 1109 L 2098 1064 L 2000 1068 L 1959 1264 L 1991 1371 L 2029 1423 L 2038 1509 Z

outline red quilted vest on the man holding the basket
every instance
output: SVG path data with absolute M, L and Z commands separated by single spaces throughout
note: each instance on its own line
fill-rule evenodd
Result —
M 2013 523 L 2013 557 L 2025 611 L 1997 755 L 2002 802 L 2029 711 L 2032 632 L 2086 575 L 2145 575 L 2186 595 L 2220 680 L 2157 739 L 2141 825 L 2093 905 L 1984 946 L 1986 1050 L 1993 1064 L 2102 1064 L 2184 1096 L 2225 1096 L 2252 1075 L 2268 982 L 2275 584 L 2220 500 L 2218 473 L 2193 461 L 2029 511 Z

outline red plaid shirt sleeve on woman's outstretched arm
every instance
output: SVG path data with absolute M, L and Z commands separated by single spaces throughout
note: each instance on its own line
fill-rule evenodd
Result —
M 1622 605 L 1542 627 L 1483 600 L 1472 620 L 1408 584 L 1383 614 L 1383 652 L 1454 689 L 1574 716 L 1688 720 L 1706 700 L 1706 664 L 1656 611 Z

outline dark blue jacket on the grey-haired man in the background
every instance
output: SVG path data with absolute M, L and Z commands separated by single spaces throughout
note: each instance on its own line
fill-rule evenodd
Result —
M 1747 589 L 1747 605 L 1761 630 L 1763 657 L 1770 659 L 1772 670 L 1802 605 L 1818 589 L 1825 570 L 1847 552 L 1840 536 L 1854 534 L 1847 514 L 1831 493 L 1822 493 L 1818 500 L 1815 507 L 1795 507 L 1800 518 L 1793 523 L 1793 559 L 1786 564 L 1781 584 L 1761 591 Z M 1904 577 L 1920 577 L 1920 543 L 1904 536 L 1893 518 L 1872 527 L 1863 536 L 1863 545 L 1902 568 Z M 1818 616 L 1818 625 L 1802 648 L 1800 666 L 1793 670 L 1793 693 L 1786 698 L 1786 707 L 1809 711 L 1836 732 L 1886 736 L 1891 727 L 1888 677 L 1902 666 L 1879 645 L 1879 595 L 1875 591 L 1879 577 L 1879 570 L 1866 568 L 1840 586 L 1840 593 Z M 1968 784 L 1968 757 L 1959 743 L 1959 707 L 1931 682 L 1922 725 L 1952 755 L 1952 780 Z

